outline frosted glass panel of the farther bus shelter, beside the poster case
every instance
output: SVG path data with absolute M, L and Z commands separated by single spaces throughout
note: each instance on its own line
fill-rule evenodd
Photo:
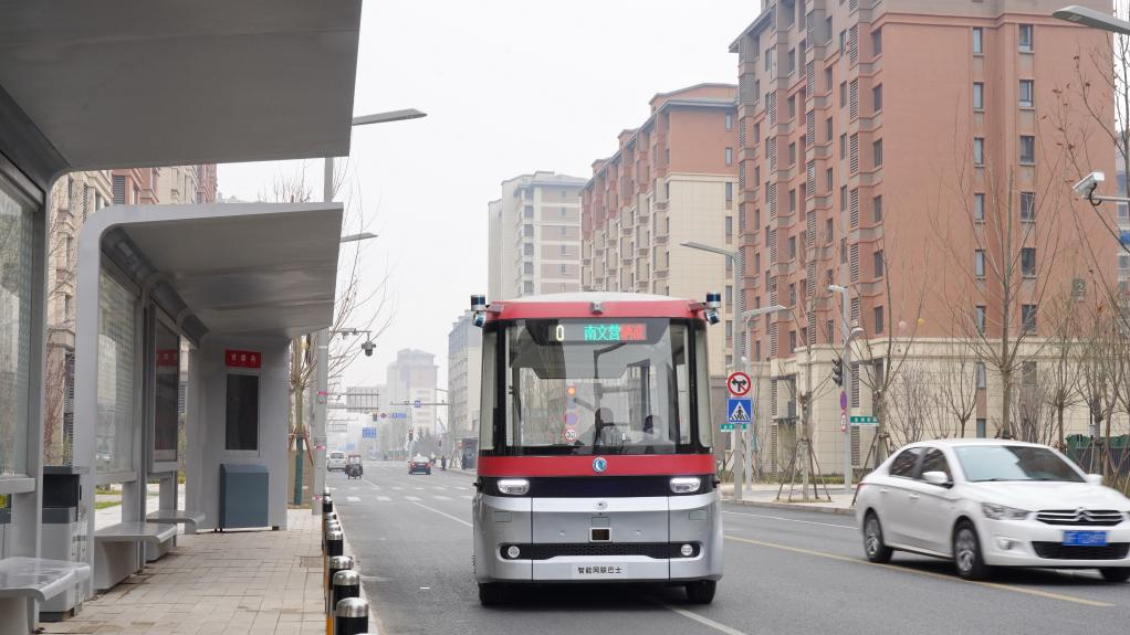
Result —
M 98 473 L 133 470 L 137 319 L 133 292 L 105 272 L 98 283 Z

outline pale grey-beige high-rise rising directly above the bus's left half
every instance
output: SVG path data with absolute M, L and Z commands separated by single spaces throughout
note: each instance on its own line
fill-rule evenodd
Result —
M 580 290 L 582 186 L 551 171 L 502 182 L 487 205 L 490 300 Z

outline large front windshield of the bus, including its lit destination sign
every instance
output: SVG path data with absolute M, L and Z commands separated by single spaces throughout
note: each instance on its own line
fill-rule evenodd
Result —
M 697 336 L 701 337 L 701 330 Z M 705 451 L 696 333 L 668 319 L 520 320 L 505 329 L 505 438 L 514 453 Z M 704 397 L 705 400 L 705 397 Z M 499 422 L 501 423 L 501 422 Z

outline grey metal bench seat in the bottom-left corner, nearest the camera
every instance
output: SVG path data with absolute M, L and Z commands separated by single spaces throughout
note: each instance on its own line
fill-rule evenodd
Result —
M 90 565 L 46 558 L 0 559 L 0 635 L 34 630 L 32 602 L 45 602 L 90 579 Z

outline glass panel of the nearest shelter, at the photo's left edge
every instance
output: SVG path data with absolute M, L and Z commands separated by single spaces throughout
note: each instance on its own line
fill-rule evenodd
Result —
M 34 209 L 0 177 L 0 476 L 27 473 Z

